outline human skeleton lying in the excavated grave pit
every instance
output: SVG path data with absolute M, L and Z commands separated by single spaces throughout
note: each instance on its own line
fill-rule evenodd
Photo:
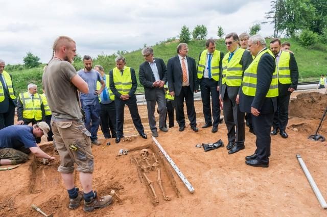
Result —
M 165 190 L 164 190 L 164 186 L 162 186 L 160 168 L 158 168 L 158 165 L 159 165 L 158 158 L 155 157 L 154 153 L 152 153 L 152 155 L 150 157 L 150 153 L 149 153 L 149 151 L 147 149 L 142 149 L 139 152 L 139 155 L 141 155 L 141 160 L 138 161 L 136 159 L 136 157 L 133 157 L 133 159 L 135 160 L 136 165 L 139 168 L 141 168 L 141 170 L 143 172 L 142 174 L 143 174 L 144 178 L 147 180 L 149 187 L 151 188 L 151 191 L 152 191 L 153 196 L 154 196 L 153 203 L 158 204 L 159 201 L 158 201 L 157 194 L 156 194 L 156 192 L 154 190 L 153 182 L 149 179 L 149 177 L 146 175 L 146 173 L 150 173 L 151 171 L 156 171 L 156 170 L 158 171 L 157 182 L 158 182 L 158 185 L 160 186 L 162 196 L 164 197 L 164 199 L 166 201 L 170 201 L 171 198 L 166 195 Z M 150 161 L 149 161 L 150 158 L 152 158 L 152 160 L 154 161 L 153 164 L 150 163 Z M 145 163 L 142 163 L 142 162 L 145 162 Z

